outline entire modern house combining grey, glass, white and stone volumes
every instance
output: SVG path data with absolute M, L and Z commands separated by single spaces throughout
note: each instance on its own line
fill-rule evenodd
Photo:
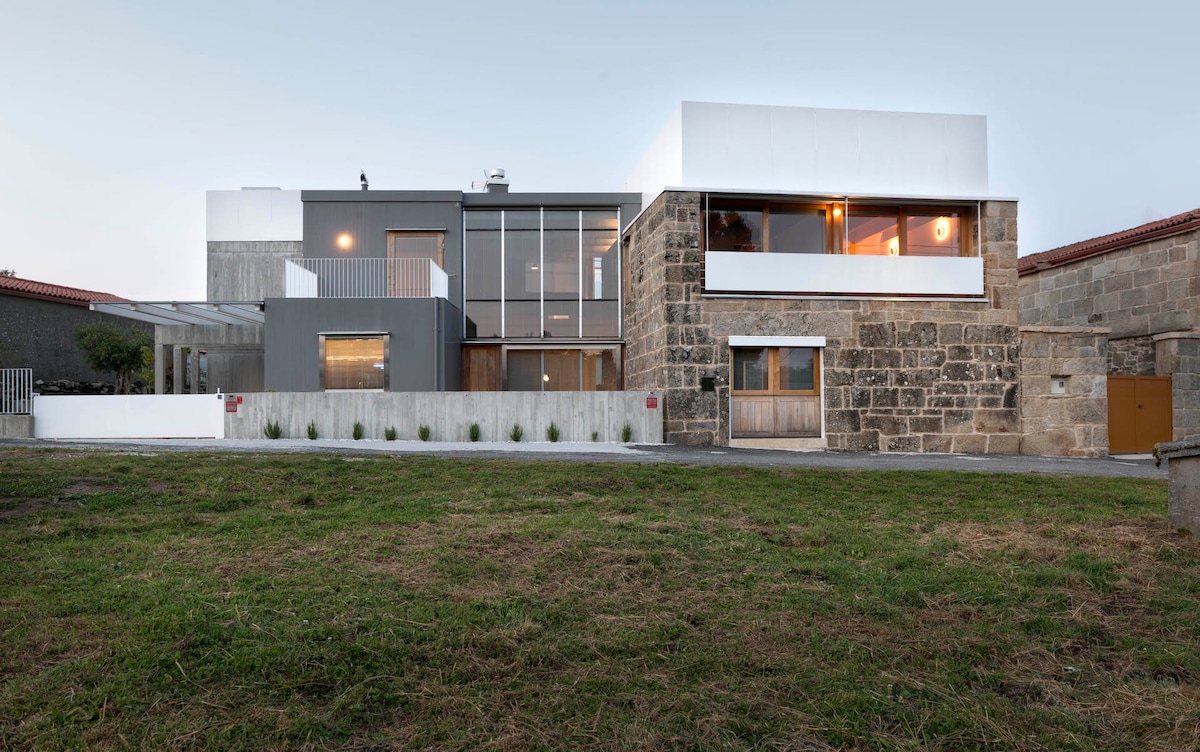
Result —
M 632 390 L 668 441 L 1015 453 L 986 155 L 982 116 L 686 102 L 622 192 L 210 192 L 209 301 L 104 308 L 226 391 Z

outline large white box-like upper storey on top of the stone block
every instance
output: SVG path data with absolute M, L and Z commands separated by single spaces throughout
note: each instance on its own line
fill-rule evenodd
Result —
M 983 198 L 988 120 L 684 102 L 625 184 L 643 206 L 666 187 Z

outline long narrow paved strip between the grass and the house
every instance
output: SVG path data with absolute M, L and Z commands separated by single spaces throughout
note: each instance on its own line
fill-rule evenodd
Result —
M 1020 457 L 1010 455 L 918 455 L 894 452 L 790 452 L 673 444 L 590 444 L 548 441 L 379 441 L 318 439 L 0 439 L 2 446 L 78 447 L 160 452 L 324 452 L 341 455 L 438 455 L 442 457 L 635 462 L 769 468 L 840 468 L 847 470 L 959 470 L 968 473 L 1046 473 L 1109 477 L 1166 479 L 1166 463 L 1150 455 L 1103 457 Z

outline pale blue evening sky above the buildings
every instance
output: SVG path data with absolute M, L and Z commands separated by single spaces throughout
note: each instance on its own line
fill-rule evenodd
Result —
M 617 191 L 680 101 L 988 118 L 1020 254 L 1200 207 L 1200 4 L 0 0 L 0 269 L 203 300 L 208 189 Z

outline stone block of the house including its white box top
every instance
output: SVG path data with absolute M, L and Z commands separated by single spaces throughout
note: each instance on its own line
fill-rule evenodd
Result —
M 662 392 L 667 441 L 1021 450 L 1016 203 L 982 118 L 684 103 L 655 150 L 625 387 Z

